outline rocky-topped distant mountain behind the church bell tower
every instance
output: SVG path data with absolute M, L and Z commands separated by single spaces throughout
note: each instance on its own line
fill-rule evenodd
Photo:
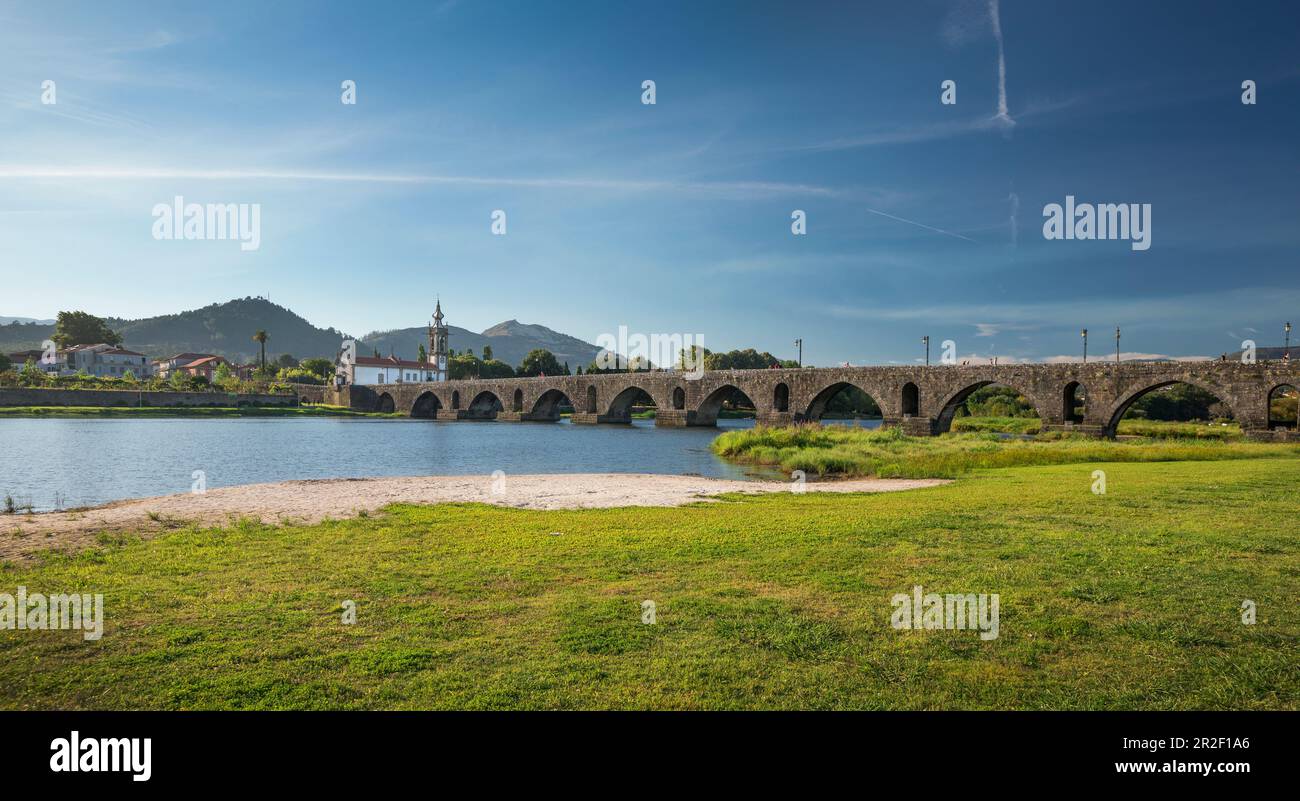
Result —
M 481 334 L 448 325 L 447 339 L 451 350 L 463 352 L 468 348 L 473 350 L 477 356 L 484 355 L 484 346 L 491 346 L 493 358 L 511 367 L 519 367 L 528 351 L 538 347 L 555 354 L 555 359 L 560 364 L 567 361 L 569 369 L 577 369 L 580 365 L 585 368 L 601 352 L 601 348 L 577 337 L 562 334 L 545 325 L 526 325 L 519 320 L 498 322 Z M 385 356 L 393 352 L 402 359 L 413 359 L 420 345 L 428 347 L 429 329 L 420 326 L 374 332 L 363 337 L 360 342 L 363 354 L 378 350 Z

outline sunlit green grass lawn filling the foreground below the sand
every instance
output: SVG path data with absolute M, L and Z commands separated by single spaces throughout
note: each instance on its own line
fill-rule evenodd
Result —
M 98 642 L 0 632 L 0 707 L 1296 709 L 1297 464 L 105 538 L 0 568 L 107 616 Z M 998 638 L 890 628 L 916 584 L 998 593 Z

